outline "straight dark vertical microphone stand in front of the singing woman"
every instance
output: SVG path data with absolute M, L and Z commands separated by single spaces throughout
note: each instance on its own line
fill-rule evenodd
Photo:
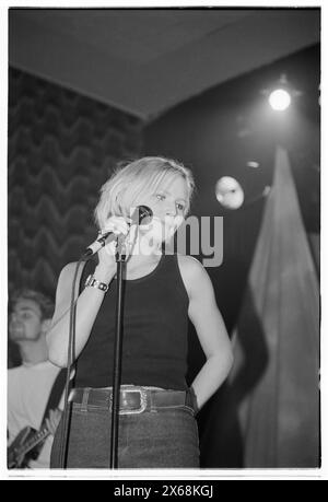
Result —
M 110 468 L 117 469 L 118 458 L 118 427 L 119 427 L 119 392 L 121 377 L 122 353 L 122 272 L 127 259 L 125 236 L 119 235 L 116 248 L 117 262 L 117 292 L 116 292 L 116 328 L 114 341 L 114 373 L 113 373 L 113 401 L 112 401 L 112 441 L 110 441 Z

